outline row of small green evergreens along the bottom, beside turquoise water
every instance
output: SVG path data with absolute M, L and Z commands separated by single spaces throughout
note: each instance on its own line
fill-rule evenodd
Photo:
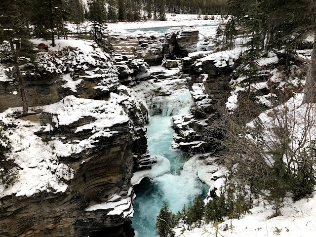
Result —
M 174 228 L 182 228 L 184 232 L 208 223 L 218 226 L 225 217 L 239 219 L 243 214 L 249 213 L 251 200 L 241 190 L 237 195 L 227 190 L 229 189 L 221 189 L 220 196 L 210 198 L 206 205 L 202 197 L 196 197 L 193 203 L 188 206 L 184 204 L 176 214 L 167 203 L 163 203 L 156 218 L 156 234 L 158 237 L 174 237 Z

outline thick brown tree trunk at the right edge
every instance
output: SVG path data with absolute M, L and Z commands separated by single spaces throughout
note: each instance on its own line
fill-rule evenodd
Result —
M 314 34 L 311 61 L 307 71 L 303 103 L 316 103 L 316 32 Z

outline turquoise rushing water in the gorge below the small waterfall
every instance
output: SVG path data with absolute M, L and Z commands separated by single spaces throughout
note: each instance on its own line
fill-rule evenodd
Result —
M 171 148 L 174 130 L 170 124 L 170 116 L 153 116 L 147 126 L 148 148 L 151 154 L 168 158 L 171 171 L 155 178 L 144 178 L 139 185 L 134 186 L 137 197 L 132 225 L 137 232 L 136 237 L 156 236 L 156 217 L 163 202 L 176 213 L 182 209 L 183 204 L 189 204 L 208 190 L 194 173 L 182 170 L 188 158 L 185 158 L 182 151 Z

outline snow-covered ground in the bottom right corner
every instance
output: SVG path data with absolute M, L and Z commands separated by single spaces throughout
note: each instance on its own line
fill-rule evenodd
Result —
M 314 193 L 316 195 L 316 193 Z M 295 203 L 289 198 L 284 201 L 281 216 L 267 219 L 274 212 L 272 206 L 260 205 L 250 209 L 251 215 L 240 220 L 227 220 L 219 225 L 219 237 L 314 237 L 316 236 L 316 198 L 304 198 Z M 224 231 L 225 224 L 228 230 Z M 177 237 L 216 236 L 212 224 L 185 231 L 176 229 Z

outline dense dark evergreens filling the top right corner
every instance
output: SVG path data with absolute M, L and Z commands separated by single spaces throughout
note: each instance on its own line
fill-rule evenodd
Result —
M 242 52 L 237 76 L 256 78 L 255 61 L 267 50 L 281 50 L 289 68 L 291 55 L 298 47 L 311 47 L 307 36 L 314 37 L 312 60 L 307 77 L 304 102 L 316 102 L 316 3 L 313 0 L 227 0 L 229 20 L 217 29 L 219 50 L 232 49 L 239 38 Z M 240 41 L 240 40 L 239 40 Z

